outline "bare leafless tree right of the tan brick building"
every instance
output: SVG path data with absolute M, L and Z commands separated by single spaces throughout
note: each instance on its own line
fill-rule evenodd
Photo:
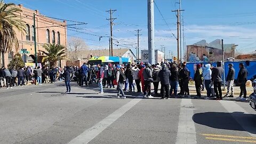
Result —
M 83 59 L 81 51 L 87 50 L 88 46 L 86 45 L 84 39 L 72 37 L 68 41 L 68 58 L 70 60 Z

